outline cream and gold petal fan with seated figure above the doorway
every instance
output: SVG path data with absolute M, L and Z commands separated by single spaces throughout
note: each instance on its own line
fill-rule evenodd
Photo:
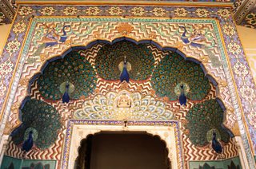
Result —
M 140 92 L 108 92 L 86 100 L 74 112 L 75 119 L 83 120 L 171 120 L 174 112 L 166 103 Z

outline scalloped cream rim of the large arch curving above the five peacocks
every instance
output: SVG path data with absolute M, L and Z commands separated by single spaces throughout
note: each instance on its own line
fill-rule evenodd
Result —
M 38 78 L 39 75 L 42 74 L 43 70 L 46 68 L 46 66 L 51 62 L 51 61 L 55 61 L 59 58 L 63 58 L 66 56 L 67 53 L 70 53 L 70 51 L 74 50 L 74 49 L 89 49 L 91 46 L 98 44 L 98 43 L 106 43 L 106 44 L 114 44 L 118 41 L 131 41 L 134 44 L 138 45 L 138 44 L 143 44 L 143 43 L 150 43 L 152 45 L 157 46 L 159 51 L 162 50 L 166 50 L 166 51 L 172 51 L 174 53 L 178 53 L 180 56 L 182 56 L 185 61 L 193 61 L 197 64 L 199 64 L 203 70 L 203 72 L 205 73 L 205 76 L 210 80 L 210 82 L 214 85 L 214 88 L 216 88 L 216 94 L 217 94 L 217 99 L 218 102 L 221 104 L 222 108 L 225 110 L 226 112 L 226 118 L 225 121 L 223 122 L 223 125 L 226 128 L 229 128 L 230 130 L 233 129 L 234 127 L 234 108 L 232 108 L 231 104 L 229 101 L 227 101 L 226 99 L 226 95 L 223 95 L 222 92 L 220 92 L 221 90 L 225 90 L 227 88 L 227 84 L 226 81 L 224 80 L 220 80 L 219 77 L 215 77 L 213 73 L 211 73 L 210 71 L 210 67 L 207 65 L 207 61 L 205 60 L 205 58 L 197 58 L 194 56 L 186 56 L 186 53 L 183 53 L 180 49 L 178 49 L 176 46 L 171 47 L 171 46 L 162 46 L 160 44 L 158 44 L 155 41 L 148 41 L 148 40 L 140 40 L 137 41 L 137 39 L 133 39 L 132 37 L 118 37 L 116 39 L 114 39 L 113 41 L 107 41 L 107 40 L 96 40 L 96 41 L 90 41 L 89 43 L 87 43 L 86 46 L 74 46 L 68 49 L 63 49 L 61 52 L 59 52 L 59 54 L 53 55 L 53 56 L 49 56 L 47 57 L 47 59 L 44 59 L 41 61 L 41 64 L 39 66 L 37 66 L 37 70 L 33 71 L 33 75 L 30 74 L 29 76 L 26 75 L 26 78 L 22 78 L 19 81 L 19 85 L 18 88 L 20 88 L 22 91 L 24 91 L 24 89 L 26 90 L 26 92 L 22 93 L 22 96 L 15 96 L 16 97 L 16 101 L 14 102 L 14 104 L 12 105 L 11 108 L 11 113 L 15 116 L 15 118 L 17 119 L 13 119 L 13 123 L 10 122 L 10 124 L 7 124 L 7 128 L 6 128 L 6 133 L 10 133 L 14 130 L 14 128 L 17 128 L 18 125 L 21 123 L 20 120 L 18 120 L 18 108 L 22 107 L 22 103 L 23 100 L 26 99 L 26 96 L 30 95 L 30 90 L 31 90 L 31 85 L 33 84 L 33 82 L 35 81 L 36 78 Z M 207 66 L 206 66 L 207 65 Z M 28 78 L 30 77 L 30 78 Z M 225 89 L 224 89 L 225 88 Z M 19 94 L 17 94 L 19 95 Z M 234 131 L 237 133 L 237 131 Z

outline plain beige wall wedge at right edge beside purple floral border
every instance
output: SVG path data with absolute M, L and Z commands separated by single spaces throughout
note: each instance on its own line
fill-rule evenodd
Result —
M 237 26 L 237 28 L 256 83 L 256 29 L 246 28 L 244 26 Z

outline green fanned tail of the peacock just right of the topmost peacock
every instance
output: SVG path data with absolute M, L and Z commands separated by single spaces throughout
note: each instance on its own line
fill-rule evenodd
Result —
M 190 100 L 202 100 L 210 91 L 210 82 L 200 65 L 185 61 L 178 53 L 170 53 L 154 69 L 151 85 L 158 96 L 177 100 L 174 88 L 180 84 L 190 88 L 186 93 Z

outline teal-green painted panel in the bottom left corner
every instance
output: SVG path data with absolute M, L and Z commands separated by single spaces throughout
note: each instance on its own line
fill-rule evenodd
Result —
M 1 169 L 18 169 L 22 166 L 22 159 L 16 159 L 10 156 L 3 156 Z

